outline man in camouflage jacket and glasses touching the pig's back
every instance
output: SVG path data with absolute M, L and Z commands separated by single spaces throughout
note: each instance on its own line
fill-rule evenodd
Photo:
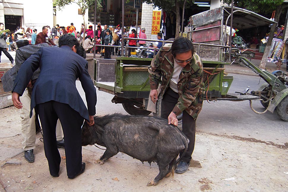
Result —
M 161 118 L 168 119 L 168 124 L 177 126 L 176 116 L 183 112 L 182 131 L 190 142 L 176 172 L 184 173 L 188 170 L 192 158 L 195 122 L 202 109 L 205 92 L 202 61 L 194 53 L 192 43 L 186 38 L 178 37 L 173 44 L 165 44 L 161 47 L 148 71 L 150 97 L 154 103 L 158 99 L 156 89 L 161 84 Z

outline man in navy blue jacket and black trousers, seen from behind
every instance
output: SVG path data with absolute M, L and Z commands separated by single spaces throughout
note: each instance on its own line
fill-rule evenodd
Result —
M 94 125 L 96 89 L 88 74 L 88 63 L 76 54 L 79 43 L 71 34 L 59 38 L 59 47 L 41 47 L 21 66 L 15 79 L 12 101 L 22 108 L 19 99 L 27 87 L 33 72 L 40 67 L 40 74 L 31 95 L 31 111 L 39 114 L 44 135 L 44 150 L 50 174 L 59 176 L 61 157 L 56 144 L 58 118 L 65 137 L 67 176 L 75 178 L 85 170 L 82 162 L 81 126 L 85 119 Z M 74 53 L 73 53 L 74 52 Z M 75 81 L 79 78 L 85 92 L 88 110 L 80 97 Z

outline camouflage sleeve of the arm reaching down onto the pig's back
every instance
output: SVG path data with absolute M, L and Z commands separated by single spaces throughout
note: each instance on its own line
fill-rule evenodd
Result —
M 201 65 L 202 61 L 200 60 Z M 183 93 L 179 96 L 178 102 L 173 108 L 173 112 L 179 115 L 187 107 L 189 107 L 195 100 L 197 101 L 197 96 L 199 92 L 202 92 L 203 84 L 203 67 L 201 67 L 194 74 L 190 74 L 189 81 L 186 82 L 185 87 L 183 87 Z M 202 105 L 201 105 L 202 106 Z

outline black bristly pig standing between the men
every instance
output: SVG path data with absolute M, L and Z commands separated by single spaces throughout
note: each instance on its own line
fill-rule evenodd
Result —
M 180 152 L 184 154 L 189 140 L 175 126 L 168 125 L 167 120 L 147 116 L 130 116 L 122 114 L 94 117 L 94 126 L 85 122 L 82 128 L 82 145 L 97 143 L 106 147 L 106 151 L 96 160 L 103 164 L 105 160 L 119 151 L 139 159 L 157 162 L 159 174 L 147 186 L 154 186 L 163 177 L 174 173 Z

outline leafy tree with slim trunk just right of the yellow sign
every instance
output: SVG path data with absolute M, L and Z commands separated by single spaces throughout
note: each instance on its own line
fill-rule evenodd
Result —
M 147 4 L 153 4 L 154 7 L 159 7 L 166 12 L 174 13 L 176 15 L 176 34 L 175 38 L 179 36 L 180 29 L 180 8 L 183 8 L 184 0 L 142 0 Z M 193 1 L 186 1 L 185 8 L 189 8 L 193 5 Z

